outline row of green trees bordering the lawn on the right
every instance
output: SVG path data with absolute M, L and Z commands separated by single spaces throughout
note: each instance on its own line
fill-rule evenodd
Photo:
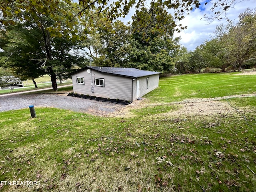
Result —
M 214 36 L 188 52 L 181 48 L 176 58 L 177 73 L 240 71 L 256 67 L 256 10 L 246 10 L 237 24 L 216 27 Z

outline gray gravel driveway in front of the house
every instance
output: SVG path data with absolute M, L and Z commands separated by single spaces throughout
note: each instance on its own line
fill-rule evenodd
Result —
M 108 116 L 125 105 L 66 96 L 67 94 L 17 94 L 0 97 L 0 112 L 36 107 L 54 107 L 76 112 Z

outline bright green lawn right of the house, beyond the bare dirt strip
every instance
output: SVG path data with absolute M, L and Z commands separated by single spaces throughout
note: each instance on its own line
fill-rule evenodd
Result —
M 234 74 L 188 74 L 161 78 L 159 87 L 148 93 L 147 98 L 154 102 L 174 102 L 256 92 L 256 75 Z

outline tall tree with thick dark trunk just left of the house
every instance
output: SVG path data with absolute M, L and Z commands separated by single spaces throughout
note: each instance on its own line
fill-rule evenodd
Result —
M 38 54 L 38 58 L 33 59 L 41 62 L 37 68 L 50 75 L 53 90 L 58 89 L 56 78 L 62 77 L 60 72 L 72 66 L 67 61 L 71 57 L 70 48 L 74 48 L 77 42 L 78 33 L 78 21 L 76 18 L 72 20 L 72 5 L 76 6 L 58 0 L 16 0 L 4 1 L 0 6 L 3 13 L 0 22 L 4 26 L 20 26 L 21 30 L 27 30 L 28 33 L 38 31 L 36 40 L 44 56 Z

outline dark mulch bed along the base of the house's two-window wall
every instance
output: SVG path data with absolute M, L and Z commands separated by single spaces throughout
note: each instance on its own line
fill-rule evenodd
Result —
M 117 104 L 123 104 L 123 105 L 128 105 L 128 104 L 132 103 L 130 101 L 121 100 L 121 99 L 110 99 L 110 98 L 96 97 L 96 96 L 90 96 L 90 95 L 75 94 L 73 92 L 69 93 L 68 96 L 79 97 L 79 98 L 84 98 L 84 99 L 91 99 L 91 100 L 96 100 L 96 101 L 117 103 Z

